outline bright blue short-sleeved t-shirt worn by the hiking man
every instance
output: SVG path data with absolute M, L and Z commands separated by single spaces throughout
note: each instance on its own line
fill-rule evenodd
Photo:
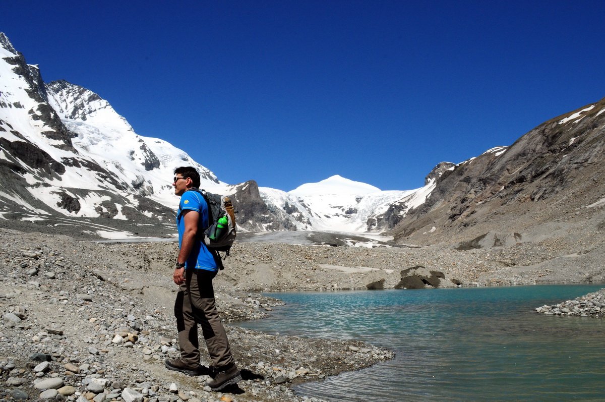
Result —
M 185 269 L 197 268 L 206 269 L 206 271 L 218 271 L 217 262 L 214 259 L 212 252 L 208 250 L 206 245 L 201 241 L 201 231 L 208 226 L 208 204 L 204 197 L 197 191 L 185 191 L 181 196 L 181 201 L 178 203 L 177 211 L 177 229 L 178 229 L 178 248 L 183 242 L 183 233 L 185 232 L 185 217 L 181 215 L 181 211 L 191 209 L 200 214 L 198 221 L 198 238 L 187 261 Z

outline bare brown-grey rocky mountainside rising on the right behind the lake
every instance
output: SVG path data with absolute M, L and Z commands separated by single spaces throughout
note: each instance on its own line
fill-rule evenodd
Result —
M 426 202 L 397 223 L 396 242 L 498 246 L 543 239 L 552 222 L 600 214 L 590 205 L 605 196 L 604 108 L 605 99 L 446 169 Z

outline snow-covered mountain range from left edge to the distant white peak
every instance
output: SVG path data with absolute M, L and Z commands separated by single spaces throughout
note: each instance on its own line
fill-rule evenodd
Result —
M 67 81 L 45 84 L 38 66 L 27 64 L 0 33 L 4 223 L 42 220 L 54 227 L 74 225 L 65 218 L 85 219 L 83 231 L 90 235 L 125 228 L 126 223 L 163 224 L 170 231 L 178 202 L 170 179 L 181 165 L 200 171 L 203 188 L 233 197 L 243 231 L 383 231 L 388 229 L 384 214 L 391 204 L 404 205 L 399 214 L 405 214 L 430 192 L 430 185 L 381 191 L 340 176 L 289 193 L 259 189 L 253 180 L 229 185 L 165 140 L 135 133 L 93 91 Z M 157 236 L 157 229 L 153 231 Z

